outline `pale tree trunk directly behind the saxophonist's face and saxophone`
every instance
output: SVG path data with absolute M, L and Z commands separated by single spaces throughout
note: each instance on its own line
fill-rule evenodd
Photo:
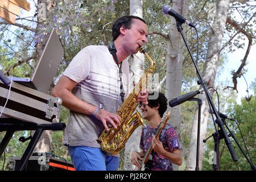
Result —
M 130 15 L 139 16 L 142 18 L 142 0 L 130 0 Z M 138 52 L 130 57 L 130 73 L 131 83 L 137 83 L 142 73 L 144 72 L 144 55 Z M 130 89 L 132 90 L 132 89 Z M 139 151 L 139 142 L 141 140 L 142 126 L 139 126 L 127 140 L 125 144 L 125 170 L 134 170 L 135 166 L 131 164 L 131 152 Z

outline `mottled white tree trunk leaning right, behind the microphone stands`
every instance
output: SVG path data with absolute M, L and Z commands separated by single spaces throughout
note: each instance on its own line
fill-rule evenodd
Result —
M 214 22 L 212 25 L 212 35 L 208 42 L 207 58 L 205 60 L 203 79 L 205 83 L 209 83 L 208 86 L 214 86 L 214 80 L 216 77 L 216 71 L 218 67 L 218 60 L 220 58 L 220 47 L 224 34 L 226 18 L 228 15 L 229 1 L 219 0 L 216 2 L 216 15 L 214 16 Z M 212 96 L 213 92 L 210 92 Z M 199 98 L 202 100 L 201 106 L 201 123 L 200 123 L 200 152 L 199 152 L 199 169 L 203 163 L 204 155 L 204 143 L 203 139 L 207 133 L 207 121 L 209 117 L 209 105 L 204 93 L 199 94 Z M 195 111 L 193 119 L 191 141 L 189 144 L 189 154 L 185 170 L 195 170 L 196 168 L 196 142 L 197 142 L 197 117 L 198 107 Z

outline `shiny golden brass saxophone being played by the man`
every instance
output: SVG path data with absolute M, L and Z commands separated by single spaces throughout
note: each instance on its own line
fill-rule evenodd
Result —
M 129 139 L 133 131 L 138 126 L 144 125 L 143 118 L 138 110 L 134 113 L 134 110 L 138 106 L 137 96 L 141 92 L 142 88 L 146 88 L 148 77 L 155 71 L 155 62 L 148 56 L 145 49 L 139 47 L 139 52 L 144 53 L 147 59 L 150 61 L 150 67 L 146 68 L 143 72 L 139 82 L 135 85 L 133 92 L 129 94 L 129 97 L 123 102 L 122 106 L 117 110 L 115 114 L 121 117 L 121 125 L 116 129 L 111 127 L 108 131 L 104 130 L 97 142 L 100 143 L 101 150 L 107 155 L 117 154 L 126 141 Z M 134 113 L 134 114 L 133 114 Z M 132 115 L 133 114 L 133 115 Z

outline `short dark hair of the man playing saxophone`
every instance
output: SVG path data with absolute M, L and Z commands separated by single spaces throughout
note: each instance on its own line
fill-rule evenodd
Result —
M 139 19 L 142 22 L 144 22 L 146 24 L 146 22 L 142 19 L 139 18 L 138 16 L 133 16 L 133 15 L 129 15 L 129 16 L 122 16 L 120 18 L 118 18 L 112 27 L 112 38 L 113 38 L 113 42 L 115 39 L 118 38 L 119 34 L 120 34 L 120 27 L 125 27 L 127 29 L 131 28 L 131 22 L 133 19 Z

